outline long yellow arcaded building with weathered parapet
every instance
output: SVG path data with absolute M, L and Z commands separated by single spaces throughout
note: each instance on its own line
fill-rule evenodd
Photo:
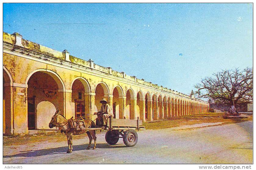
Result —
M 105 97 L 116 119 L 143 121 L 198 114 L 209 104 L 110 67 L 3 33 L 3 133 L 48 129 L 56 108 L 94 120 Z

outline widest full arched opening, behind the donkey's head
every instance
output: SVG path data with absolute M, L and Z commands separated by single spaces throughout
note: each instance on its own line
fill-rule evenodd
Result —
M 37 71 L 27 80 L 28 129 L 49 129 L 56 108 L 64 115 L 64 86 L 56 73 Z

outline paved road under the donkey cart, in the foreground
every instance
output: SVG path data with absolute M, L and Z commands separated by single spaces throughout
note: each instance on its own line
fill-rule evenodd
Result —
M 88 138 L 74 140 L 74 151 L 66 142 L 36 143 L 4 147 L 3 162 L 30 164 L 223 164 L 252 163 L 252 121 L 195 129 L 160 129 L 139 131 L 135 147 L 126 147 L 122 139 L 117 145 L 105 142 L 104 133 L 97 135 L 96 150 L 85 150 Z M 42 149 L 43 148 L 43 149 Z M 14 154 L 15 153 L 15 154 Z

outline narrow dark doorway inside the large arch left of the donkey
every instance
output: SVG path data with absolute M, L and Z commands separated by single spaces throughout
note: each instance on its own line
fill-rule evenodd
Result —
M 35 129 L 35 96 L 27 98 L 27 126 L 28 130 Z

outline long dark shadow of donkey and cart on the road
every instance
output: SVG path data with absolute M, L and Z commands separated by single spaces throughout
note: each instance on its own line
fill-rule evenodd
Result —
M 82 144 L 82 145 L 74 145 L 73 146 L 73 151 L 80 151 L 80 150 L 86 150 L 87 144 Z M 91 145 L 92 150 L 93 145 Z M 122 148 L 122 147 L 127 147 L 123 145 L 109 145 L 107 143 L 99 143 L 96 146 L 97 148 Z M 40 149 L 40 150 L 32 150 L 32 151 L 24 151 L 23 153 L 20 154 L 15 154 L 15 155 L 4 155 L 3 158 L 12 158 L 12 157 L 37 157 L 37 156 L 43 156 L 43 155 L 51 155 L 51 154 L 65 154 L 67 151 L 68 147 L 56 147 L 56 148 L 50 148 L 50 149 Z

